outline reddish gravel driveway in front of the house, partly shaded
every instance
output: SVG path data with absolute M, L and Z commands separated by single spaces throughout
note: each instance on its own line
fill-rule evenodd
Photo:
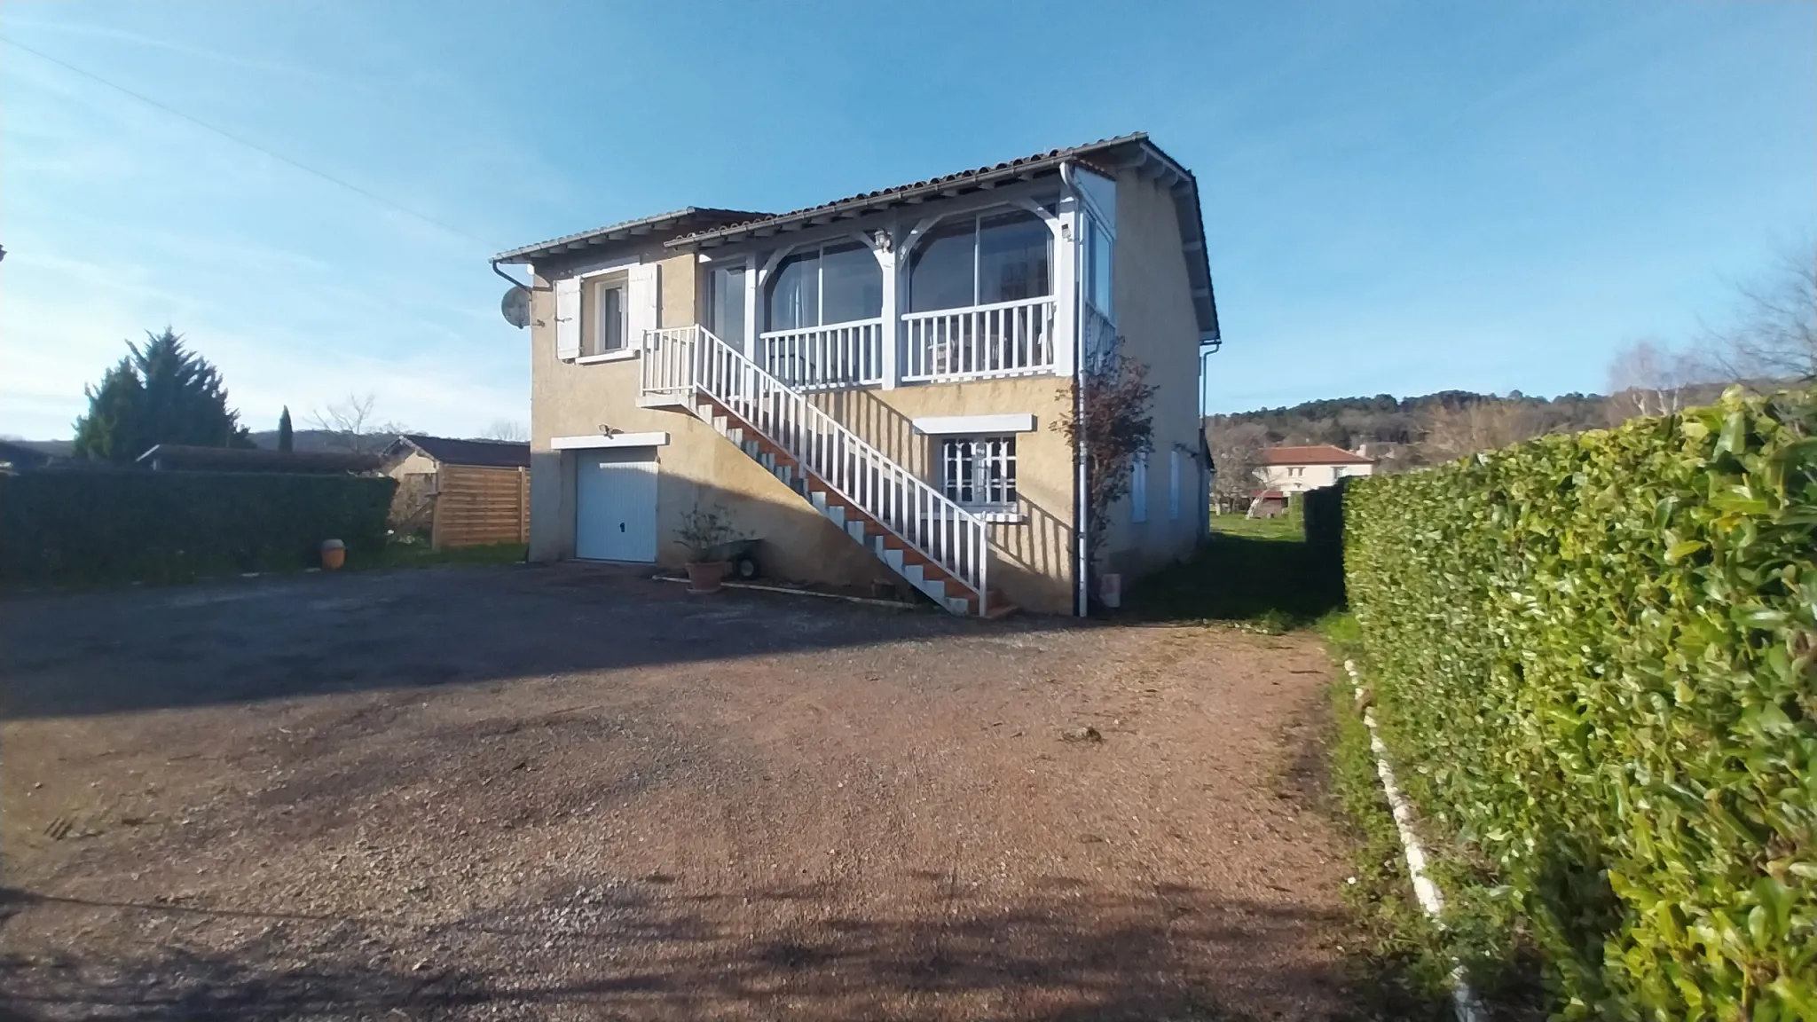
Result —
M 0 1018 L 1345 1017 L 1326 678 L 578 566 L 4 600 Z

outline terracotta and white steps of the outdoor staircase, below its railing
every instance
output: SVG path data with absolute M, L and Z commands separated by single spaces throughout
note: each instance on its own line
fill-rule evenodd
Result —
M 803 467 L 794 455 L 745 424 L 732 409 L 705 395 L 694 395 L 690 411 L 763 466 L 765 471 L 781 480 L 783 486 L 801 495 L 814 511 L 819 511 L 829 522 L 852 536 L 854 542 L 876 555 L 878 560 L 908 586 L 914 586 L 954 615 L 978 615 L 978 593 L 970 586 L 954 578 L 950 571 L 910 547 L 901 536 L 841 496 L 825 480 Z M 1003 618 L 1019 609 L 1003 596 L 1001 589 L 987 589 L 987 596 L 985 616 L 988 618 Z

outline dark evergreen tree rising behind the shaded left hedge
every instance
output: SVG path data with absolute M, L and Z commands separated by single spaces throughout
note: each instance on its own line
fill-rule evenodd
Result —
M 240 416 L 227 407 L 220 371 L 184 347 L 165 327 L 127 342 L 129 356 L 87 387 L 89 411 L 76 420 L 78 458 L 129 464 L 156 444 L 251 447 Z

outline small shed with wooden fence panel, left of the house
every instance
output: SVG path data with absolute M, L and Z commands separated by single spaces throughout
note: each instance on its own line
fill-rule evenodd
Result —
M 382 458 L 385 475 L 398 480 L 394 531 L 427 531 L 434 549 L 529 542 L 527 442 L 405 433 Z

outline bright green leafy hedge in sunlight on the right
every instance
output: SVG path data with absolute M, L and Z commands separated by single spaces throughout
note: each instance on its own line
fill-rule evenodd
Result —
M 1355 480 L 1348 593 L 1450 933 L 1564 1018 L 1817 1018 L 1817 396 Z

